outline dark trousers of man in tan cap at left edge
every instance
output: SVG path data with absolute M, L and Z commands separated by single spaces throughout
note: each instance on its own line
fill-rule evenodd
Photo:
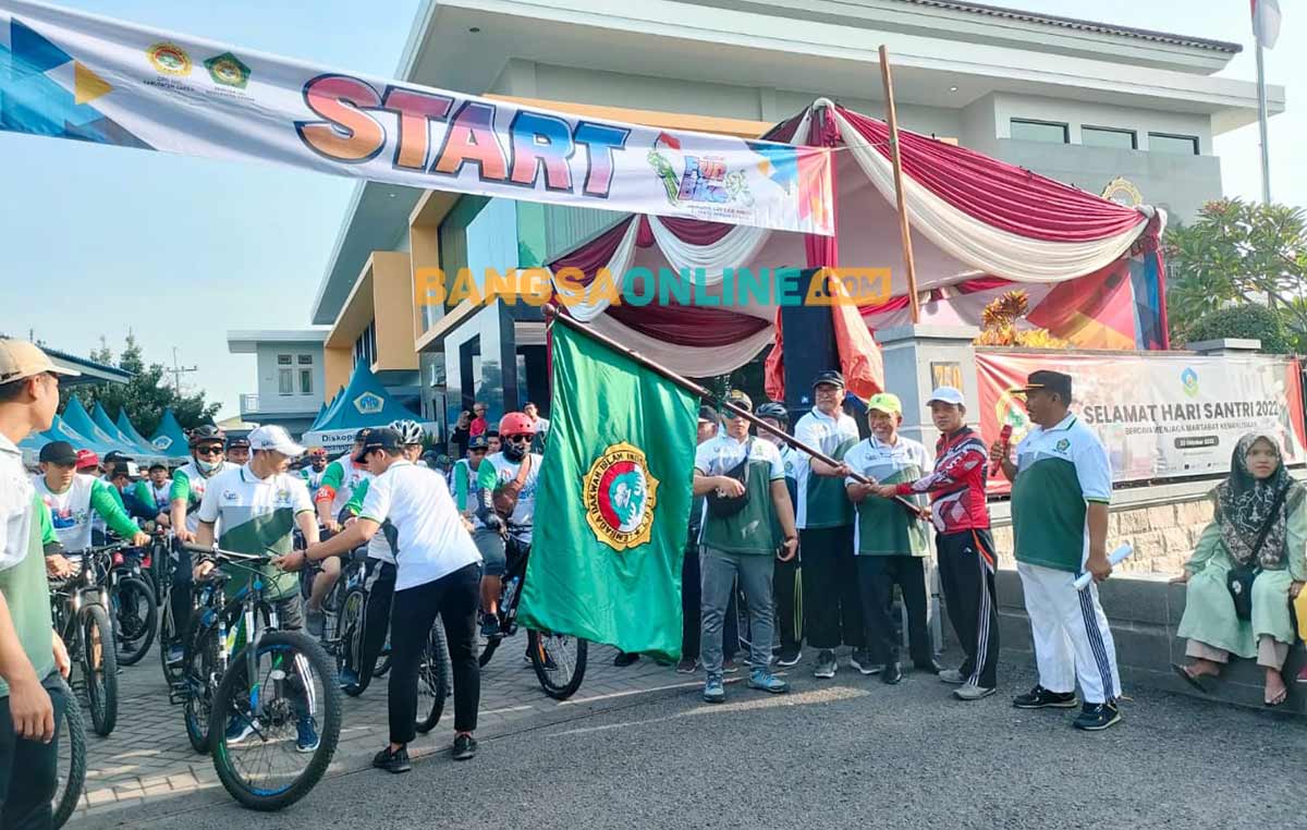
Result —
M 4 830 L 51 826 L 51 800 L 59 787 L 59 723 L 69 701 L 59 674 L 43 685 L 55 707 L 55 740 L 48 744 L 20 739 L 13 731 L 9 695 L 0 698 L 0 827 Z

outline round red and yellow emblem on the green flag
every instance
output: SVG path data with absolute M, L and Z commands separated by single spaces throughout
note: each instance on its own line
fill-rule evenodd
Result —
M 650 541 L 657 485 L 644 452 L 626 442 L 605 448 L 582 476 L 586 522 L 595 539 L 613 550 Z

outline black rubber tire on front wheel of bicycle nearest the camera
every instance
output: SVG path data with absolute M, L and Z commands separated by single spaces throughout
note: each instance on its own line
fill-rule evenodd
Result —
M 222 677 L 222 684 L 218 685 L 218 693 L 214 695 L 209 733 L 213 736 L 213 769 L 218 772 L 218 779 L 227 793 L 239 801 L 242 806 L 260 812 L 273 812 L 290 806 L 308 795 L 327 772 L 332 755 L 336 753 L 336 745 L 340 741 L 341 702 L 340 689 L 333 682 L 332 661 L 318 640 L 298 631 L 268 631 L 260 640 L 259 648 L 260 651 L 265 648 L 282 648 L 298 652 L 322 678 L 323 723 L 319 728 L 318 749 L 314 750 L 314 757 L 310 759 L 308 766 L 305 767 L 305 771 L 289 786 L 276 792 L 255 789 L 246 784 L 231 766 L 231 757 L 227 752 L 225 715 L 235 705 L 238 691 L 243 697 L 246 688 L 244 676 L 248 671 L 243 648 L 231 659 L 227 673 Z

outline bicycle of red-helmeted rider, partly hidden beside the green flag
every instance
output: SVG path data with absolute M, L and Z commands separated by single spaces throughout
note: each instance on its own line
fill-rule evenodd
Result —
M 521 584 L 527 576 L 531 545 L 515 537 L 514 529 L 508 528 L 505 540 L 508 565 L 499 593 L 499 634 L 486 640 L 481 650 L 477 661 L 482 667 L 490 661 L 505 638 L 518 633 L 518 600 L 521 597 Z M 531 657 L 531 668 L 536 671 L 540 688 L 555 701 L 566 701 L 580 689 L 582 680 L 586 678 L 588 648 L 589 644 L 578 637 L 527 629 L 527 655 Z

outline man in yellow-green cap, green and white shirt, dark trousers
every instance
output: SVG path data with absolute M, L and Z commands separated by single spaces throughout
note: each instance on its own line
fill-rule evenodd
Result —
M 897 395 L 873 395 L 867 401 L 867 422 L 870 435 L 844 454 L 844 463 L 877 484 L 846 478 L 844 488 L 857 508 L 853 553 L 870 668 L 881 667 L 881 680 L 897 684 L 903 680 L 903 667 L 898 626 L 890 616 L 895 584 L 907 609 L 912 664 L 932 674 L 938 672 L 938 665 L 925 622 L 925 527 L 919 514 L 894 499 L 893 493 L 886 495 L 885 488 L 919 478 L 931 461 L 920 442 L 899 434 L 903 404 Z

